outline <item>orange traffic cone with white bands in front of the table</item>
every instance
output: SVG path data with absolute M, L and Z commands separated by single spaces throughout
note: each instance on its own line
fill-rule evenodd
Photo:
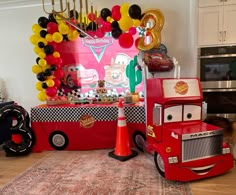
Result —
M 126 125 L 123 103 L 119 101 L 116 147 L 114 151 L 109 152 L 109 156 L 120 161 L 126 161 L 137 155 L 136 151 L 130 149 L 129 132 Z

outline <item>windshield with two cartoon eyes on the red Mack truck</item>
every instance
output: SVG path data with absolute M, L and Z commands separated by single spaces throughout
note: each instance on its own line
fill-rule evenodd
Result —
M 175 105 L 164 109 L 165 123 L 194 120 L 201 120 L 201 106 Z

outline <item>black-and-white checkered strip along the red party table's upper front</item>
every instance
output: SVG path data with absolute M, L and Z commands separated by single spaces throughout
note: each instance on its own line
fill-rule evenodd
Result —
M 127 106 L 124 111 L 127 122 L 145 122 L 144 106 Z M 116 105 L 31 108 L 32 122 L 77 122 L 85 114 L 96 121 L 113 121 L 117 120 L 118 108 Z

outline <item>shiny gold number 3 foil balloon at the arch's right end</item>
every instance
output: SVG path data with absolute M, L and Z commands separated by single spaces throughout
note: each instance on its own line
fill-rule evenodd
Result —
M 146 51 L 160 46 L 164 20 L 160 10 L 149 10 L 144 14 L 140 25 L 146 27 L 146 36 L 138 38 L 138 49 Z

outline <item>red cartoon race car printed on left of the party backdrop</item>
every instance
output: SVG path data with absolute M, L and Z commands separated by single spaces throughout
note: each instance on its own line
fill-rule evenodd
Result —
M 69 88 L 96 84 L 98 73 L 95 69 L 85 69 L 81 64 L 66 65 L 63 67 L 64 78 L 62 82 Z

